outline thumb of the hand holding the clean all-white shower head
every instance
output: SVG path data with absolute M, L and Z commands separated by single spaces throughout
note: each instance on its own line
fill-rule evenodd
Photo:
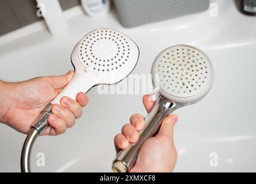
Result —
M 55 89 L 62 89 L 63 87 L 65 87 L 67 85 L 67 83 L 70 82 L 73 75 L 74 75 L 74 71 L 70 70 L 65 75 L 50 76 L 49 82 L 51 83 L 52 87 L 54 87 Z

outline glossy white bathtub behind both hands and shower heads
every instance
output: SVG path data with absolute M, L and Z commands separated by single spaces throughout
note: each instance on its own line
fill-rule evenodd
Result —
M 177 110 L 176 172 L 256 171 L 256 17 L 243 16 L 234 1 L 212 1 L 210 11 L 133 29 L 123 28 L 114 12 L 103 18 L 80 14 L 67 21 L 68 30 L 51 36 L 46 29 L 20 37 L 0 37 L 0 79 L 22 81 L 42 75 L 61 75 L 72 69 L 70 53 L 80 38 L 100 27 L 117 29 L 140 48 L 133 74 L 149 74 L 157 54 L 174 44 L 191 44 L 213 62 L 215 79 L 209 95 L 193 106 Z M 22 32 L 24 33 L 24 31 Z M 9 36 L 9 37 L 8 37 Z M 13 39 L 16 37 L 16 39 Z M 19 38 L 20 37 L 20 38 Z M 10 41 L 12 39 L 12 41 Z M 32 171 L 111 171 L 113 138 L 133 113 L 146 115 L 140 95 L 88 93 L 89 105 L 77 124 L 61 136 L 39 137 L 32 152 Z M 0 124 L 0 171 L 19 172 L 25 135 Z M 45 166 L 36 164 L 37 153 Z M 211 156 L 217 166 L 211 163 Z

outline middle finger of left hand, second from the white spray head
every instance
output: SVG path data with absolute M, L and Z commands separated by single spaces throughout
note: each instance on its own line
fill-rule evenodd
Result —
M 82 107 L 77 101 L 74 101 L 69 97 L 62 97 L 61 105 L 67 108 L 75 118 L 80 118 L 82 116 Z

